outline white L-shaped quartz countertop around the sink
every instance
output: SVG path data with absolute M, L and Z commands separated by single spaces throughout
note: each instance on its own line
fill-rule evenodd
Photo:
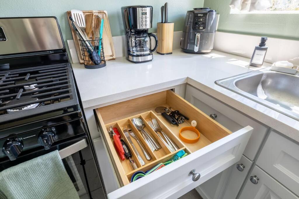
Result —
M 133 96 L 188 83 L 240 112 L 299 142 L 299 121 L 216 85 L 219 79 L 260 68 L 248 68 L 250 59 L 212 51 L 206 55 L 174 50 L 154 53 L 150 62 L 135 64 L 124 57 L 107 61 L 101 69 L 72 64 L 83 108 L 97 108 Z M 265 63 L 264 66 L 271 64 Z

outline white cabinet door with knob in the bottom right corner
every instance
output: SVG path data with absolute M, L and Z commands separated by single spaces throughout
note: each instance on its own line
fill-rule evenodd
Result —
M 254 183 L 253 183 L 254 182 Z M 289 189 L 272 178 L 258 166 L 254 166 L 240 199 L 298 199 Z

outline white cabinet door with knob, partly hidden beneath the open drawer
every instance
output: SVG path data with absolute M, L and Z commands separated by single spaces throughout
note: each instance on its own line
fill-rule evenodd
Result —
M 242 155 L 239 162 L 196 187 L 196 190 L 204 199 L 236 198 L 252 163 L 252 161 Z

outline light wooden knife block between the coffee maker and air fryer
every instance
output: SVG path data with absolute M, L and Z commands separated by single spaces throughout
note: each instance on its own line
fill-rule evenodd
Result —
M 174 23 L 157 23 L 158 48 L 160 55 L 172 54 Z

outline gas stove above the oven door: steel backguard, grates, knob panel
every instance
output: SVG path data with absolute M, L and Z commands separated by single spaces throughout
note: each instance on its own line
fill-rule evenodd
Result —
M 22 34 L 13 32 L 19 26 Z M 57 19 L 0 18 L 0 27 L 8 37 L 0 35 L 0 163 L 85 138 Z

